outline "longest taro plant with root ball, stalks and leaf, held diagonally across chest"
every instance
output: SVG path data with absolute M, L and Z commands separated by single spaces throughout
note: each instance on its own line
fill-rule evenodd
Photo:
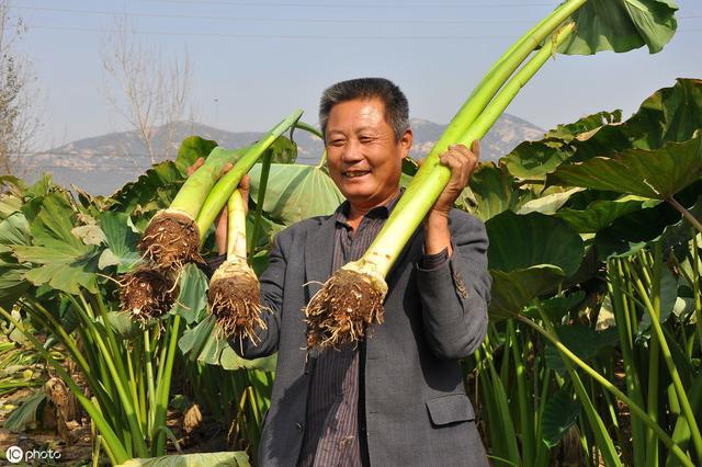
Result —
M 644 44 L 650 52 L 663 48 L 675 31 L 675 3 L 630 3 L 631 0 L 566 1 L 508 48 L 449 124 L 363 258 L 335 272 L 313 297 L 305 310 L 308 346 L 354 342 L 364 335 L 369 323 L 383 322 L 385 277 L 451 178 L 451 171 L 440 164 L 439 155 L 451 144 L 472 145 L 483 137 L 562 45 L 562 52 L 570 54 L 626 52 Z M 586 8 L 579 11 L 581 7 Z M 634 11 L 631 18 L 626 16 L 630 11 Z M 569 37 L 576 23 L 578 32 Z M 514 72 L 540 45 L 541 50 Z

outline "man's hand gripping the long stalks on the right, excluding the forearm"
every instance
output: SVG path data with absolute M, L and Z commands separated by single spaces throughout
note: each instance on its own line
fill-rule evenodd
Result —
M 471 174 L 477 167 L 479 158 L 480 141 L 477 139 L 473 141 L 471 149 L 464 145 L 449 146 L 449 149 L 439 156 L 441 164 L 451 169 L 451 180 L 449 180 L 449 184 L 439 195 L 430 215 L 449 216 L 449 212 L 453 208 L 453 203 L 468 184 Z

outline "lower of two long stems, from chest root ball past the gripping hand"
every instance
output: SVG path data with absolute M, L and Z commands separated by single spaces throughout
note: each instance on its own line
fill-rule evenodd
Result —
M 574 24 L 570 23 L 555 33 L 553 39 L 544 45 L 544 47 L 514 75 L 467 130 L 464 130 L 461 135 L 455 132 L 446 132 L 444 135 L 449 136 L 445 138 L 442 137 L 441 140 L 468 143 L 469 145 L 473 140 L 484 136 L 495 123 L 495 119 L 497 119 L 517 95 L 519 90 L 534 76 L 552 54 L 555 53 L 558 45 L 570 35 L 573 30 Z M 439 143 L 437 143 L 432 150 L 435 157 L 431 159 L 432 156 L 430 155 L 424 162 L 422 162 L 421 168 L 415 174 L 395 209 L 393 209 L 390 217 L 360 260 L 361 262 L 373 264 L 383 277 L 387 276 L 393 264 L 407 244 L 407 241 L 417 227 L 419 227 L 424 215 L 429 213 L 451 178 L 451 170 L 439 163 L 439 151 L 443 152 L 444 150 L 445 146 L 441 147 Z M 433 170 L 430 170 L 430 168 Z

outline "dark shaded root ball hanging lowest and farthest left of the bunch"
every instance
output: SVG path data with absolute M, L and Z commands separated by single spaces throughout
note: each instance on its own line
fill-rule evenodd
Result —
M 178 287 L 158 270 L 141 267 L 121 282 L 120 309 L 143 321 L 168 312 L 178 297 Z

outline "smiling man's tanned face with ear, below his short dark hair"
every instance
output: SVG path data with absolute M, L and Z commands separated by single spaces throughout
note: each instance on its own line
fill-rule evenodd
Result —
M 353 100 L 331 107 L 327 122 L 329 174 L 355 207 L 387 202 L 399 187 L 403 159 L 409 153 L 411 130 L 399 141 L 385 121 L 378 99 Z

